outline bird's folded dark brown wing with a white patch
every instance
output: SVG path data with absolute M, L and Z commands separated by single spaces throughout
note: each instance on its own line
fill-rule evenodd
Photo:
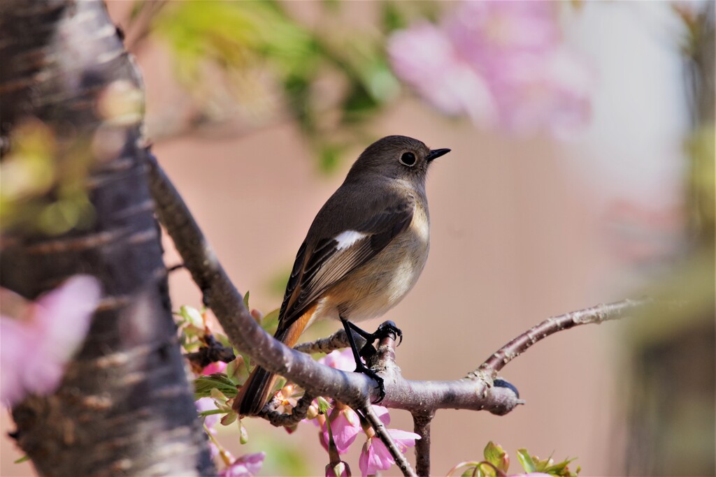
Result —
M 313 244 L 301 244 L 281 305 L 279 332 L 300 318 L 324 291 L 407 229 L 415 211 L 415 198 L 409 195 L 388 202 L 355 227 L 342 227 L 342 231 L 320 237 Z

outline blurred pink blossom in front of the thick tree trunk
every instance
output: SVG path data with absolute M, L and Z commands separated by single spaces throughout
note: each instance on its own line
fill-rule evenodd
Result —
M 64 368 L 84 341 L 100 302 L 100 282 L 76 275 L 39 297 L 0 316 L 0 400 L 14 405 L 29 393 L 54 392 Z M 21 300 L 3 290 L 4 301 Z M 5 312 L 4 312 L 5 313 Z

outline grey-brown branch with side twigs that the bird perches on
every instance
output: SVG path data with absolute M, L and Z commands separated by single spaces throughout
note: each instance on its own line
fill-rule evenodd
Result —
M 266 333 L 243 305 L 241 293 L 229 280 L 175 187 L 148 151 L 146 156 L 150 188 L 159 220 L 172 237 L 193 280 L 203 291 L 205 305 L 213 310 L 231 344 L 266 370 L 301 386 L 309 396 L 326 396 L 351 408 L 366 410 L 365 417 L 390 449 L 390 435 L 384 428 L 381 430 L 379 420 L 370 418 L 372 410 L 369 403 L 378 398 L 377 383 L 364 374 L 346 373 L 321 365 L 305 354 L 344 348 L 347 345 L 345 333 L 339 331 L 329 338 L 298 345 L 296 350 Z M 381 404 L 387 408 L 408 410 L 414 416 L 417 432 L 425 439 L 416 447 L 418 468 L 421 475 L 427 474 L 430 472 L 429 424 L 435 410 L 450 408 L 488 410 L 496 415 L 509 413 L 522 401 L 513 390 L 493 386 L 493 378 L 509 361 L 557 331 L 621 318 L 629 310 L 649 302 L 648 299 L 624 300 L 549 318 L 493 353 L 466 378 L 458 380 L 418 381 L 403 378 L 395 363 L 395 343 L 390 338 L 381 340 L 377 353 L 368 365 L 384 379 L 385 397 Z M 276 422 L 291 419 L 280 415 L 273 418 Z M 393 448 L 395 451 L 395 445 Z M 397 452 L 394 458 L 405 475 L 415 475 L 402 453 Z

